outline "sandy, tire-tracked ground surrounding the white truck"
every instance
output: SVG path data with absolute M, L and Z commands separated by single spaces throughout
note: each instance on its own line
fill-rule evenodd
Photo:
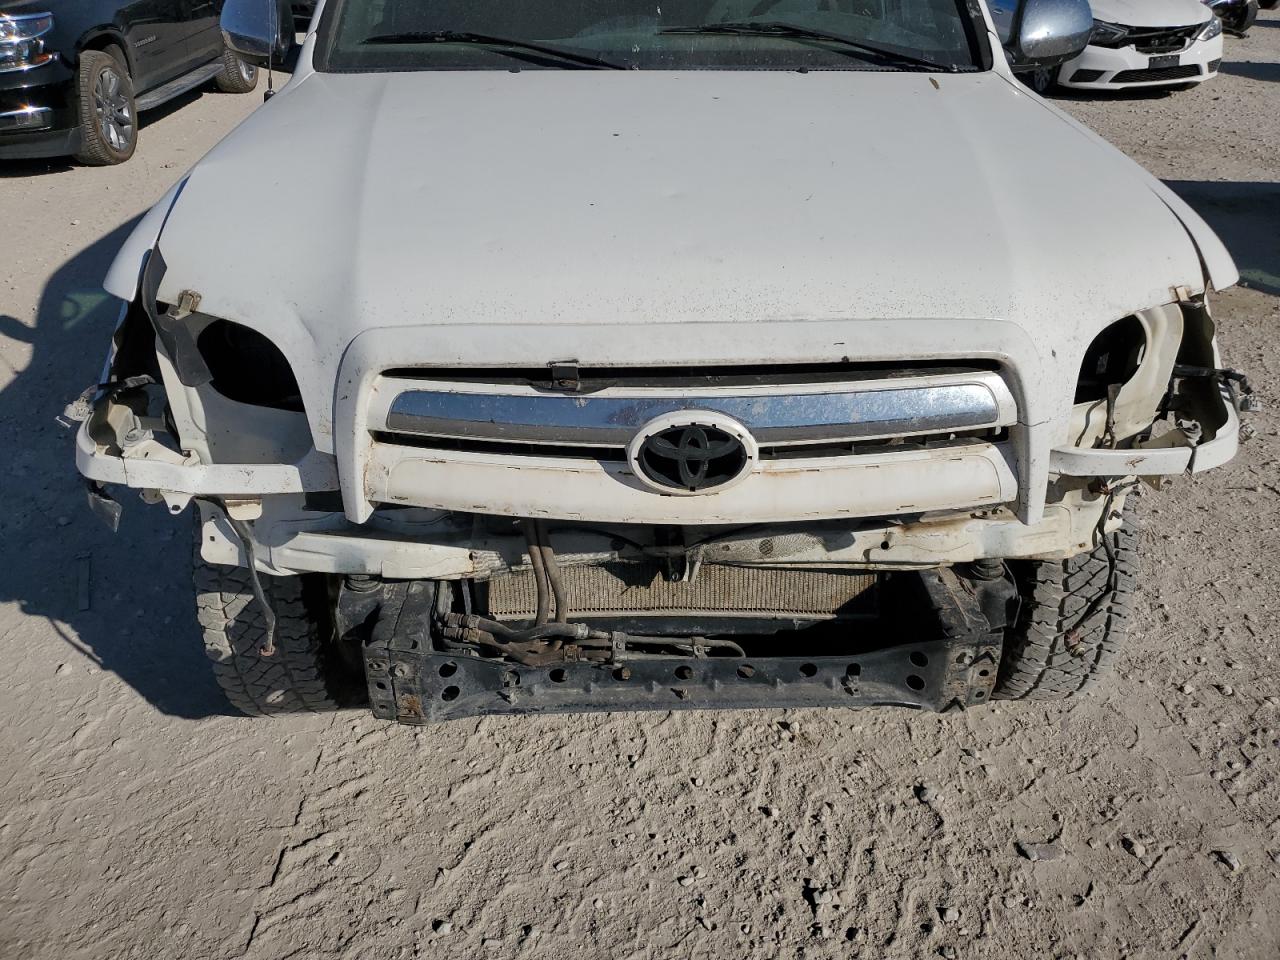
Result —
M 1274 397 L 1280 14 L 1226 49 L 1196 91 L 1057 100 L 1222 232 L 1222 343 Z M 188 97 L 123 168 L 0 170 L 0 957 L 1280 955 L 1270 412 L 1144 498 L 1121 676 L 1068 705 L 229 716 L 186 525 L 108 534 L 55 416 L 115 247 L 257 102 Z

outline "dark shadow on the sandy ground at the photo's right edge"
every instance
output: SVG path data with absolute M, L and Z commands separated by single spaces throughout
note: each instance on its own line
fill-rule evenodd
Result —
M 1243 283 L 1280 297 L 1280 183 L 1166 180 L 1222 238 Z

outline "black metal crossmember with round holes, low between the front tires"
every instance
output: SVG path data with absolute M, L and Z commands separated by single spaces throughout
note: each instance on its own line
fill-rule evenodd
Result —
M 434 593 L 426 582 L 407 582 L 365 643 L 370 703 L 376 717 L 413 724 L 483 714 L 884 705 L 946 712 L 986 703 L 1004 630 L 989 609 L 1002 600 L 992 604 L 948 570 L 920 577 L 938 631 L 882 649 L 808 658 L 620 654 L 544 667 L 436 649 Z

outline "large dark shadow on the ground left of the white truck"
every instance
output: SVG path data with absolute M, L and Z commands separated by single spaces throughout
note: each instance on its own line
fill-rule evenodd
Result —
M 0 337 L 29 348 L 24 365 L 9 351 L 18 372 L 0 390 L 6 461 L 0 603 L 47 621 L 61 637 L 56 643 L 67 644 L 68 662 L 88 658 L 164 713 L 225 714 L 195 621 L 191 527 L 124 492 L 124 520 L 113 535 L 86 507 L 74 431 L 58 421 L 101 371 L 119 315 L 119 301 L 101 283 L 134 223 L 91 243 L 50 276 L 35 328 L 0 314 Z M 47 643 L 46 631 L 31 632 L 27 643 Z

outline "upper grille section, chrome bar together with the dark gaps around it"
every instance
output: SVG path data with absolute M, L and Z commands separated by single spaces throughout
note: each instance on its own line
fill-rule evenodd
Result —
M 856 444 L 900 436 L 982 435 L 1016 421 L 998 372 L 978 365 L 874 370 L 704 367 L 602 371 L 552 387 L 521 374 L 433 370 L 384 375 L 387 406 L 371 431 L 407 445 L 609 460 L 648 425 L 672 416 L 736 421 L 764 448 Z M 518 447 L 520 449 L 513 449 Z

